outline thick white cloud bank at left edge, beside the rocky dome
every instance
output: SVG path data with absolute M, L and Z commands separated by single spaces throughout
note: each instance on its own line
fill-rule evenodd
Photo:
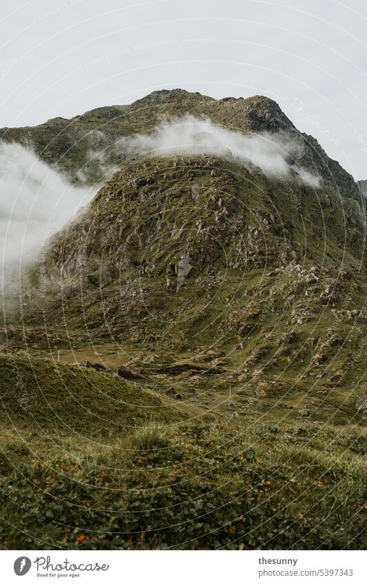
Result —
M 34 261 L 48 237 L 90 202 L 96 188 L 76 187 L 32 151 L 0 142 L 0 267 Z

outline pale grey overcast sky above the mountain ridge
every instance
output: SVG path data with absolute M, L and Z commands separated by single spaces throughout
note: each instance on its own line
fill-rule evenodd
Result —
M 367 179 L 363 0 L 1 0 L 0 127 L 181 87 L 263 94 Z

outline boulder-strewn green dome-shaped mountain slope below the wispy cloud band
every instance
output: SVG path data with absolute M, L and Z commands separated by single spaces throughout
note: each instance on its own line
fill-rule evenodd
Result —
M 362 420 L 363 215 L 292 184 L 285 197 L 212 157 L 123 165 L 23 279 L 10 347 L 123 347 L 148 387 L 206 409 L 226 407 L 230 383 L 240 409 Z

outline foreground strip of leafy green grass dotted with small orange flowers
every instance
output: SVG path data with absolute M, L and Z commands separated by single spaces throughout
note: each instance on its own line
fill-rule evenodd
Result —
M 366 545 L 366 431 L 359 427 L 199 424 L 38 459 L 17 441 L 4 442 L 15 466 L 0 482 L 8 548 Z

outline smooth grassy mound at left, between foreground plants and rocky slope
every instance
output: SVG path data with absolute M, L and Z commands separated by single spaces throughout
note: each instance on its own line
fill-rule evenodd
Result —
M 186 415 L 143 387 L 78 365 L 0 355 L 0 419 L 47 435 L 125 435 L 151 419 L 176 424 Z

